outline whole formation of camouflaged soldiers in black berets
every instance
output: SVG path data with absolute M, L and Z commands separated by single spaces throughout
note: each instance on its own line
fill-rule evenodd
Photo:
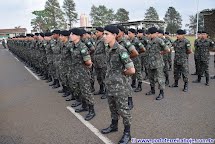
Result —
M 58 92 L 64 93 L 64 97 L 71 95 L 67 100 L 75 100 L 72 107 L 81 105 L 76 108 L 76 112 L 88 111 L 85 117 L 87 121 L 96 115 L 93 98 L 95 71 L 100 88 L 94 94 L 101 94 L 102 99 L 108 99 L 112 119 L 111 125 L 101 132 L 107 134 L 117 131 L 121 116 L 124 133 L 119 143 L 128 143 L 131 139 L 132 91 L 142 91 L 143 68 L 144 79 L 148 77 L 151 86 L 146 95 L 155 94 L 155 83 L 158 82 L 160 93 L 156 100 L 163 99 L 165 85 L 169 85 L 168 71 L 172 68 L 171 51 L 174 49 L 175 82 L 170 87 L 178 87 L 182 75 L 183 91 L 186 92 L 191 45 L 184 37 L 183 30 L 177 31 L 177 39 L 172 42 L 168 33 L 164 36 L 163 31 L 155 27 L 149 28 L 147 33 L 135 29 L 128 29 L 126 33 L 122 26 L 108 25 L 105 28 L 97 27 L 95 35 L 91 36 L 89 32 L 78 28 L 54 30 L 52 33 L 27 34 L 26 37 L 9 39 L 8 47 L 42 79 L 47 79 L 47 82 L 53 80 L 50 86 L 58 88 L 61 83 L 62 90 Z M 214 51 L 214 44 L 203 36 L 207 36 L 206 32 L 201 35 L 201 40 L 195 44 L 198 45 L 198 62 L 201 65 L 199 74 L 205 72 L 206 85 L 209 85 L 206 65 L 210 57 L 209 50 Z

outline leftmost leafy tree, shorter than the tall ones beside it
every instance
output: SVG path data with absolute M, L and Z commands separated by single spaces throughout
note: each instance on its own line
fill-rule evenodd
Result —
M 36 17 L 31 20 L 31 26 L 34 31 L 45 32 L 51 28 L 51 25 L 48 24 L 48 17 L 45 10 L 33 11 Z

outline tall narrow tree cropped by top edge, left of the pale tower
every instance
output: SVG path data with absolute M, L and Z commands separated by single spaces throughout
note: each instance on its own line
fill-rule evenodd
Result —
M 75 3 L 73 0 L 64 0 L 63 9 L 69 22 L 70 28 L 77 21 L 78 14 L 75 12 Z

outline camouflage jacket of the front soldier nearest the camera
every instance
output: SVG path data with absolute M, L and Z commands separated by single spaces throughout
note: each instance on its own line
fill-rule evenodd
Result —
M 133 68 L 134 64 L 125 48 L 116 42 L 109 48 L 107 56 L 107 73 L 105 84 L 108 96 L 128 96 L 130 85 L 123 71 Z

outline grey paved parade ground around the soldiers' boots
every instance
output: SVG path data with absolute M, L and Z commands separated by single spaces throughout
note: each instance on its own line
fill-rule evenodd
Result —
M 193 55 L 189 58 L 190 73 L 194 72 Z M 173 83 L 170 72 L 170 84 Z M 215 74 L 213 56 L 210 74 Z M 144 81 L 143 91 L 133 94 L 132 138 L 196 138 L 215 139 L 215 80 L 205 86 L 193 84 L 197 76 L 189 76 L 189 91 L 179 88 L 165 90 L 165 98 L 156 101 L 146 96 L 150 90 Z M 98 89 L 98 85 L 96 85 Z M 0 144 L 102 144 L 117 143 L 123 133 L 122 118 L 119 131 L 102 135 L 97 130 L 110 124 L 107 100 L 95 97 L 96 117 L 86 122 L 74 114 L 58 89 L 53 90 L 45 81 L 21 63 L 7 49 L 0 48 Z

